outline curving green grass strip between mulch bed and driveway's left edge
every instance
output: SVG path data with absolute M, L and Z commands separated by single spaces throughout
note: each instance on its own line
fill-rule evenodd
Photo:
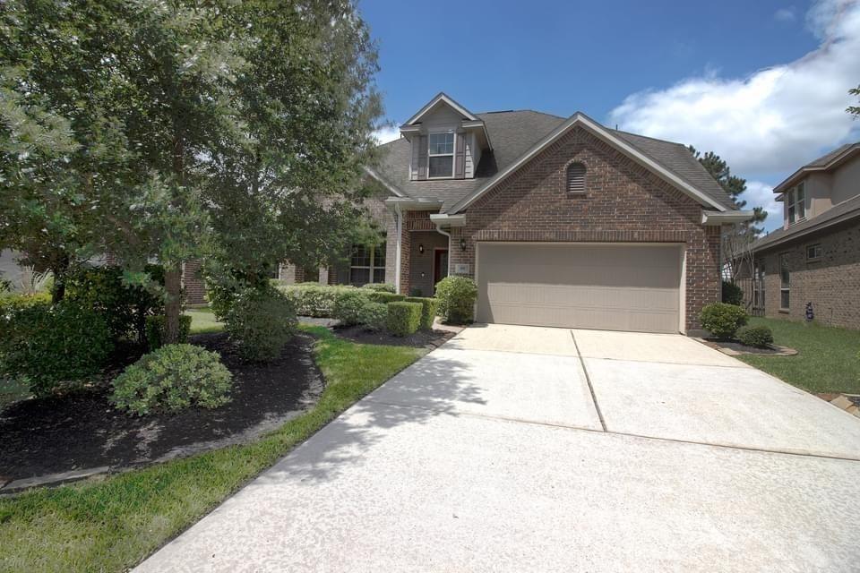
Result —
M 319 327 L 303 329 L 319 338 L 316 360 L 326 379 L 312 410 L 249 445 L 0 499 L 0 570 L 133 567 L 424 354 L 407 346 L 355 344 Z

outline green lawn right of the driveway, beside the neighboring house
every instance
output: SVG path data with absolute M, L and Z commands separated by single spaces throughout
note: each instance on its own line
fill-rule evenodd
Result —
M 738 356 L 745 363 L 810 392 L 860 394 L 860 330 L 755 317 L 750 324 L 769 326 L 776 344 L 799 354 Z

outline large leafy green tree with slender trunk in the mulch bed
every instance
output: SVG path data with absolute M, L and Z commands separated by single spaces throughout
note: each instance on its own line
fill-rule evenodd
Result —
M 0 49 L 24 78 L 18 92 L 70 126 L 77 228 L 129 269 L 164 265 L 168 341 L 183 261 L 210 255 L 259 274 L 323 256 L 356 217 L 380 104 L 375 48 L 351 2 L 3 10 Z

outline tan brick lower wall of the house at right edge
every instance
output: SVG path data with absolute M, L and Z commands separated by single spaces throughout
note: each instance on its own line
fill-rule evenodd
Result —
M 821 260 L 807 261 L 806 247 L 821 244 Z M 779 255 L 787 253 L 790 274 L 789 308 L 780 310 Z M 805 320 L 806 303 L 815 320 L 860 329 L 860 223 L 854 221 L 826 234 L 802 237 L 762 252 L 765 315 Z

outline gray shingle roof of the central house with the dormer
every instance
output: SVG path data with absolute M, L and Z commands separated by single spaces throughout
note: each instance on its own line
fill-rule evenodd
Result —
M 520 110 L 476 114 L 484 121 L 494 151 L 485 152 L 477 166 L 473 179 L 443 179 L 433 181 L 409 180 L 409 141 L 400 138 L 381 146 L 382 157 L 378 173 L 389 184 L 415 199 L 443 201 L 442 211 L 477 191 L 493 175 L 512 165 L 518 158 L 534 147 L 563 124 L 566 120 L 557 115 L 537 111 Z M 735 209 L 727 192 L 701 167 L 689 150 L 680 143 L 656 140 L 634 133 L 614 133 L 642 154 L 656 161 L 686 183 L 709 195 L 719 204 Z

